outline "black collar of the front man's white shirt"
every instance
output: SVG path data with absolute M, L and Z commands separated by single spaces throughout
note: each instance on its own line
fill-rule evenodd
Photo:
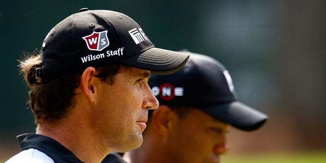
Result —
M 56 163 L 82 163 L 69 149 L 44 135 L 25 133 L 18 135 L 17 140 L 21 150 L 37 149 L 51 157 Z

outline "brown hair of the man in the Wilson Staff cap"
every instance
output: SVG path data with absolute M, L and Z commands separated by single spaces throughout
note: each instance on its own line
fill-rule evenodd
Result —
M 76 95 L 75 90 L 79 86 L 79 79 L 83 71 L 42 83 L 35 75 L 36 70 L 42 67 L 41 56 L 36 51 L 32 55 L 28 55 L 24 53 L 24 59 L 18 62 L 20 72 L 24 75 L 26 83 L 31 88 L 29 103 L 35 123 L 55 122 L 65 117 L 75 104 L 76 101 L 73 100 L 73 97 Z M 115 75 L 130 67 L 122 64 L 112 64 L 95 68 L 97 73 L 94 76 L 100 78 L 102 82 L 113 85 Z

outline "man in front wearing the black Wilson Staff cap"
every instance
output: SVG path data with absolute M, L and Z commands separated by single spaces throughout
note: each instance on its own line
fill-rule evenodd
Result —
M 22 152 L 7 162 L 101 162 L 138 148 L 158 101 L 151 73 L 181 69 L 189 55 L 155 48 L 140 26 L 114 11 L 81 9 L 20 61 L 31 87 L 36 133 L 18 135 Z

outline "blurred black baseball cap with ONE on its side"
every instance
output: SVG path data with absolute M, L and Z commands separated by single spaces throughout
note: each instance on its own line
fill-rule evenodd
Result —
M 231 76 L 220 62 L 187 53 L 190 58 L 178 72 L 150 77 L 148 84 L 160 105 L 196 107 L 241 130 L 255 130 L 264 124 L 266 114 L 237 101 Z

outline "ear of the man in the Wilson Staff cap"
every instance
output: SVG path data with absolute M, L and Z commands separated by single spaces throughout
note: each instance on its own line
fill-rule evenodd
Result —
M 95 92 L 96 92 L 96 85 L 95 85 L 95 77 L 93 76 L 96 72 L 94 67 L 88 67 L 80 77 L 80 85 L 83 88 L 83 92 L 88 97 L 91 102 L 95 101 Z

